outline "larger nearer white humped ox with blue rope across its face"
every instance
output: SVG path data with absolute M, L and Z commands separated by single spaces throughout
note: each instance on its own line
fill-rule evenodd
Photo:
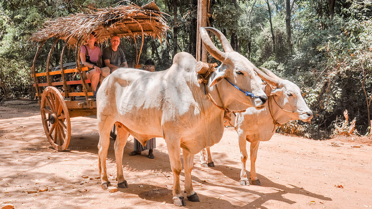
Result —
M 205 29 L 218 36 L 225 52 L 213 45 Z M 267 96 L 260 87 L 261 81 L 254 76 L 253 69 L 256 67 L 234 52 L 219 30 L 205 29 L 200 29 L 203 44 L 212 56 L 222 62 L 220 71 L 211 74 L 207 85 L 217 105 L 231 111 L 263 108 Z M 215 106 L 204 94 L 204 84 L 198 83 L 198 74 L 195 73 L 196 63 L 192 55 L 180 52 L 174 56 L 168 70 L 151 73 L 119 68 L 105 78 L 97 92 L 99 172 L 103 189 L 110 185 L 106 157 L 110 130 L 116 124 L 114 149 L 118 187 L 128 187 L 123 175 L 122 158 L 129 134 L 142 145 L 153 137 L 163 137 L 173 171 L 174 205 L 186 205 L 179 182 L 182 170 L 180 148 L 183 149 L 187 199 L 199 201 L 191 182 L 193 158 L 202 149 L 221 140 L 224 110 Z M 224 78 L 257 97 L 246 96 Z

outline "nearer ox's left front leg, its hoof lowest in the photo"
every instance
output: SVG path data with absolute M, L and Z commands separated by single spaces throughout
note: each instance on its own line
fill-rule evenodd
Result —
M 186 202 L 182 196 L 180 187 L 180 173 L 182 170 L 180 141 L 169 141 L 169 139 L 166 139 L 166 144 L 168 147 L 170 167 L 173 172 L 173 204 L 175 206 L 185 206 Z

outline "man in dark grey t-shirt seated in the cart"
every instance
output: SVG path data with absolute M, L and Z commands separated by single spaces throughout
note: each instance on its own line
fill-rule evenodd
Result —
M 119 67 L 128 68 L 125 55 L 122 49 L 118 48 L 120 44 L 120 37 L 118 35 L 111 36 L 111 46 L 103 49 L 102 58 L 105 65 L 110 68 L 110 73 Z

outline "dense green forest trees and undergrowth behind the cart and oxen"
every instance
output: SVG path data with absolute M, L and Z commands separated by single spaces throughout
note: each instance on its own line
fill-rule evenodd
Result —
M 149 0 L 134 0 L 142 6 Z M 320 139 L 345 109 L 356 119 L 360 134 L 369 133 L 372 98 L 372 12 L 371 0 L 211 0 L 208 24 L 221 30 L 235 51 L 253 64 L 266 67 L 293 81 L 303 91 L 314 112 L 311 124 L 292 122 L 308 137 Z M 128 4 L 117 0 L 0 0 L 0 100 L 35 95 L 30 67 L 36 51 L 29 42 L 32 32 L 48 19 Z M 140 62 L 152 58 L 156 70 L 170 67 L 177 52 L 195 56 L 197 0 L 155 0 L 166 12 L 171 30 L 166 41 L 146 38 Z M 89 6 L 89 7 L 87 7 Z M 217 39 L 215 44 L 219 46 Z M 137 44 L 141 43 L 137 41 Z M 45 68 L 46 43 L 38 61 Z M 59 65 L 63 43 L 55 48 L 51 65 Z M 136 47 L 121 40 L 129 63 Z M 219 46 L 220 49 L 222 49 Z M 73 60 L 70 50 L 65 61 Z M 209 57 L 209 62 L 216 62 Z M 52 67 L 53 67 L 52 66 Z

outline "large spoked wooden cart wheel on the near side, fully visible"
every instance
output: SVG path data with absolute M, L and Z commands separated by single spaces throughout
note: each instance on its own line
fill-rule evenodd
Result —
M 63 151 L 70 144 L 70 114 L 60 91 L 48 86 L 41 97 L 41 119 L 49 143 L 58 151 Z

